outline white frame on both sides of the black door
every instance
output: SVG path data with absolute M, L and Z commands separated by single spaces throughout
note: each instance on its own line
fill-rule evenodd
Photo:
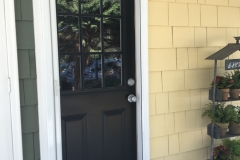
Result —
M 62 159 L 55 0 L 33 0 L 40 154 Z M 148 1 L 135 0 L 137 157 L 150 159 L 148 92 Z

